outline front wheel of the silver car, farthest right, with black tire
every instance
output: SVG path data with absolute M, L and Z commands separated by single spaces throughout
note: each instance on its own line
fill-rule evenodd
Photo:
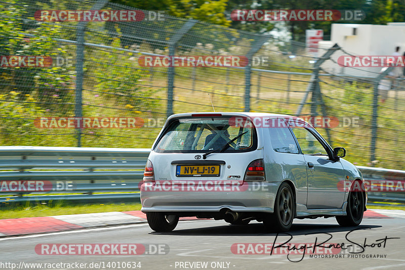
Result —
M 364 197 L 361 191 L 350 191 L 347 198 L 346 216 L 337 216 L 341 226 L 358 226 L 363 219 Z

